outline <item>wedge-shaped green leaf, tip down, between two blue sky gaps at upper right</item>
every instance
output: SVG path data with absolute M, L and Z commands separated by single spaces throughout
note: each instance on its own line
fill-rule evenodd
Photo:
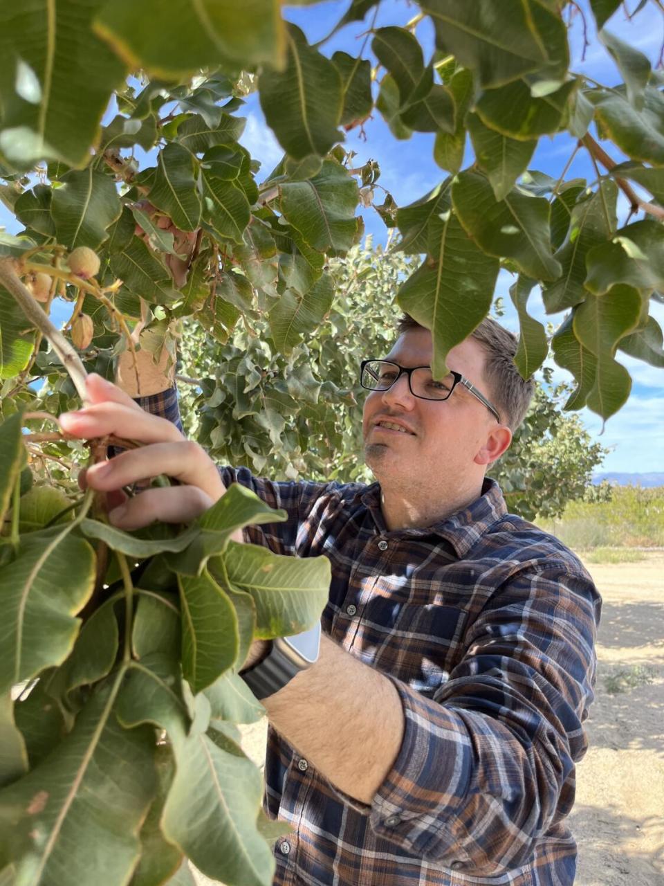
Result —
M 475 113 L 467 115 L 466 124 L 473 142 L 475 159 L 487 175 L 496 199 L 502 200 L 528 167 L 537 147 L 537 139 L 519 141 L 508 138 L 495 129 L 484 126 Z

